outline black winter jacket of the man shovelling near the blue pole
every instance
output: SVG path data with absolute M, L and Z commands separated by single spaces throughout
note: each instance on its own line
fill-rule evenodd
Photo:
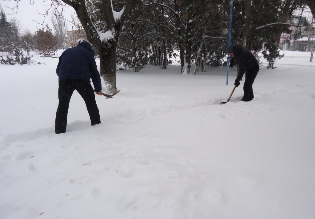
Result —
M 233 53 L 234 58 L 231 61 L 230 67 L 233 67 L 234 62 L 238 65 L 238 75 L 236 79 L 241 80 L 245 71 L 258 65 L 258 61 L 253 53 L 238 44 L 233 45 Z

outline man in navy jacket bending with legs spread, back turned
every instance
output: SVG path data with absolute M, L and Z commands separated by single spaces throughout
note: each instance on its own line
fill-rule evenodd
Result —
M 74 90 L 77 90 L 85 101 L 91 125 L 100 124 L 100 112 L 90 80 L 92 79 L 97 94 L 102 95 L 100 73 L 97 70 L 94 54 L 89 42 L 84 41 L 76 47 L 65 50 L 59 57 L 56 69 L 59 77 L 59 104 L 55 121 L 56 134 L 66 132 L 69 103 Z

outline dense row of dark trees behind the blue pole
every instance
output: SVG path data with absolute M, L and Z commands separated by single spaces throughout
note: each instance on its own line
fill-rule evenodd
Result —
M 125 26 L 129 28 L 122 30 L 118 56 L 129 54 L 127 62 L 151 62 L 167 68 L 173 50 L 179 50 L 183 74 L 196 74 L 205 66 L 225 65 L 230 2 L 139 0 L 126 20 Z M 234 1 L 232 44 L 242 44 L 255 53 L 262 51 L 267 67 L 273 68 L 275 60 L 282 57 L 278 51 L 281 33 L 291 32 L 290 21 L 301 18 L 301 13 L 294 13 L 303 11 L 307 3 L 310 7 L 311 1 L 301 0 Z M 150 59 L 142 54 L 149 54 Z M 138 71 L 142 65 L 128 66 Z

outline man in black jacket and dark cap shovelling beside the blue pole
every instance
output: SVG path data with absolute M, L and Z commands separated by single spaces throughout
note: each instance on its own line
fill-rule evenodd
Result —
M 238 87 L 240 80 L 245 73 L 244 96 L 242 101 L 251 101 L 254 98 L 253 83 L 259 71 L 259 64 L 255 56 L 245 47 L 235 44 L 230 44 L 226 48 L 226 52 L 232 57 L 230 67 L 233 67 L 234 62 L 238 65 L 238 74 L 234 85 Z

